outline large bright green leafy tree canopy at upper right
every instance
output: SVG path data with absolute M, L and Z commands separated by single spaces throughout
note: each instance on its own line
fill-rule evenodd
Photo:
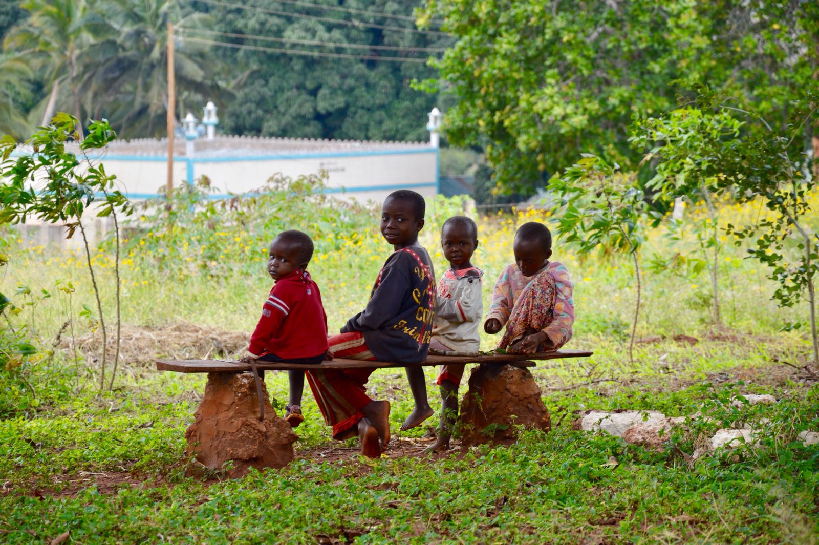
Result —
M 534 192 L 581 152 L 635 170 L 631 120 L 687 101 L 693 84 L 784 122 L 819 77 L 817 2 L 428 0 L 432 16 L 458 41 L 423 88 L 455 93 L 447 139 L 485 147 L 507 191 Z

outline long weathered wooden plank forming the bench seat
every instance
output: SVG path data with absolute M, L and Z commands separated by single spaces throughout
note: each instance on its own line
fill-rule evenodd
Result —
M 395 363 L 391 361 L 364 361 L 346 360 L 337 358 L 324 361 L 319 365 L 305 365 L 299 363 L 274 363 L 258 361 L 259 370 L 319 370 L 319 369 L 387 369 L 394 367 L 423 367 L 439 366 L 445 363 L 514 363 L 524 361 L 555 360 L 566 357 L 589 357 L 594 352 L 587 350 L 558 350 L 555 352 L 538 352 L 536 354 L 481 354 L 479 356 L 435 356 L 430 355 L 427 361 L 421 363 Z M 178 360 L 157 361 L 156 369 L 161 371 L 175 371 L 177 373 L 243 373 L 251 370 L 247 363 L 222 360 Z

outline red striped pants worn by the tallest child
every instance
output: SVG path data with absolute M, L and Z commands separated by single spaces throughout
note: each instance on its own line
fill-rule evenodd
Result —
M 327 339 L 334 357 L 351 360 L 375 360 L 359 331 L 333 335 Z M 310 390 L 324 416 L 333 426 L 333 438 L 343 440 L 358 434 L 358 422 L 364 418 L 361 409 L 370 401 L 364 389 L 372 369 L 328 369 L 305 371 Z

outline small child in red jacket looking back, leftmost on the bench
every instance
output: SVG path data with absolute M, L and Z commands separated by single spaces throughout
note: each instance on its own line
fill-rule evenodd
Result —
M 284 231 L 270 243 L 267 270 L 276 283 L 262 307 L 247 357 L 240 361 L 308 364 L 324 361 L 328 350 L 327 315 L 319 286 L 306 270 L 311 257 L 313 241 L 301 231 Z M 290 402 L 284 420 L 295 428 L 304 420 L 301 393 L 305 374 L 301 370 L 291 370 L 287 375 Z

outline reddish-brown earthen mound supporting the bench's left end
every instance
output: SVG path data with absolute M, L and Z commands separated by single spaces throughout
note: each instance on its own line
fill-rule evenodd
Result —
M 213 470 L 233 461 L 228 475 L 241 477 L 250 467 L 283 467 L 293 460 L 298 436 L 276 415 L 262 383 L 265 420 L 259 420 L 256 382 L 249 373 L 210 373 L 205 397 L 185 432 L 185 453 Z

